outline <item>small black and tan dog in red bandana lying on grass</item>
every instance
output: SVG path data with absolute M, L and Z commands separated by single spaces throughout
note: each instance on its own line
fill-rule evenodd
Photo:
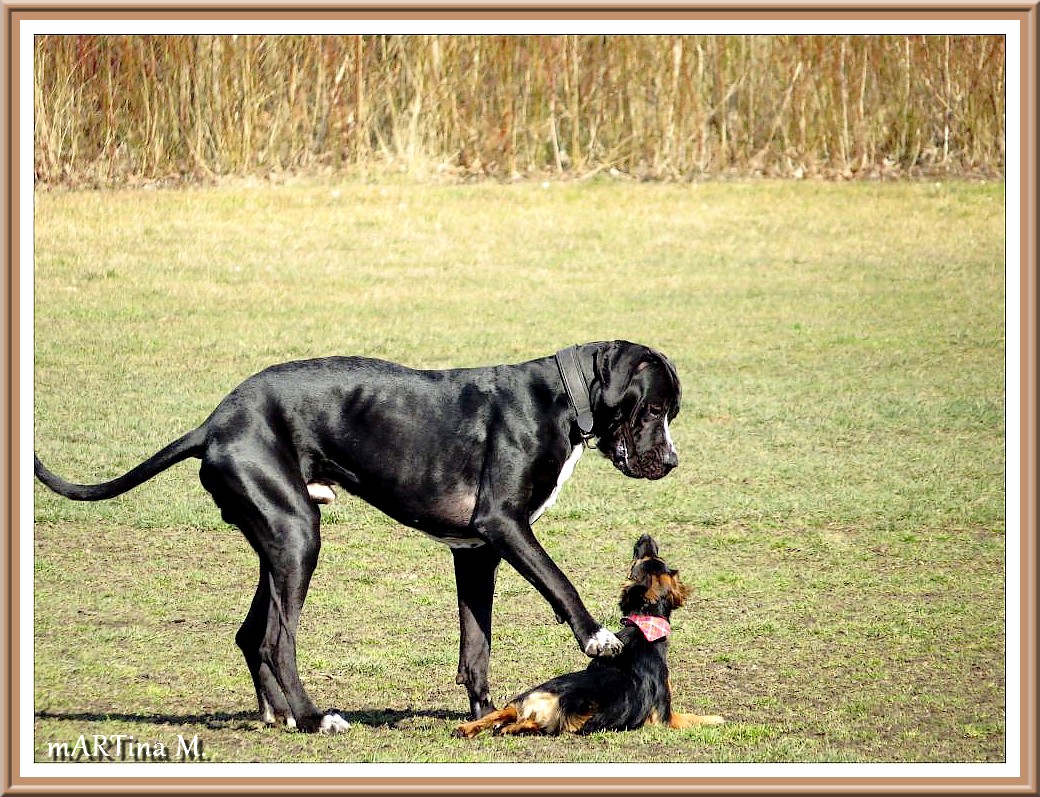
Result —
M 495 734 L 591 734 L 631 730 L 646 723 L 684 728 L 718 725 L 722 717 L 676 714 L 668 674 L 669 617 L 682 606 L 686 588 L 679 571 L 657 556 L 643 535 L 621 591 L 624 643 L 614 659 L 594 659 L 584 669 L 547 680 L 514 697 L 509 705 L 456 728 L 456 736 Z

